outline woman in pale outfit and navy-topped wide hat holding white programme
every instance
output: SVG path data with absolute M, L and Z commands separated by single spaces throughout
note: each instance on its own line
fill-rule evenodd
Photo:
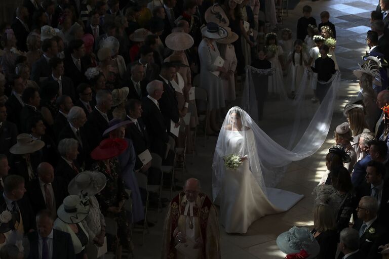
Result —
M 209 22 L 207 26 L 201 29 L 204 38 L 199 45 L 200 56 L 200 85 L 208 92 L 208 112 L 207 116 L 207 134 L 215 135 L 220 131 L 220 126 L 217 125 L 216 115 L 220 109 L 225 107 L 224 104 L 224 89 L 221 81 L 220 72 L 225 73 L 226 70 L 222 64 L 216 65 L 215 62 L 220 59 L 219 49 L 216 45 L 216 39 L 222 39 L 227 36 L 227 31 L 217 25 Z

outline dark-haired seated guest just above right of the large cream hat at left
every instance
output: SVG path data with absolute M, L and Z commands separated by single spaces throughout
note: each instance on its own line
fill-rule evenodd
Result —
M 53 141 L 53 139 L 46 134 L 46 126 L 43 123 L 42 117 L 34 116 L 27 120 L 29 131 L 28 133 L 31 135 L 33 140 L 42 140 L 45 142 L 45 146 L 40 149 L 36 154 L 37 156 L 42 157 L 42 161 L 49 162 L 52 165 L 57 163 L 58 152 L 57 147 Z

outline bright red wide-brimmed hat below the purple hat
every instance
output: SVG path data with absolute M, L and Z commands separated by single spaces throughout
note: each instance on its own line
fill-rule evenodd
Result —
M 122 154 L 127 146 L 127 141 L 124 139 L 105 139 L 92 151 L 91 157 L 94 160 L 110 159 Z

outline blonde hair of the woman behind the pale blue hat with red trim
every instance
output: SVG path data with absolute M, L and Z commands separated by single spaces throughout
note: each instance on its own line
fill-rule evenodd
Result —
M 336 229 L 334 209 L 328 204 L 319 204 L 314 209 L 314 227 L 319 232 Z

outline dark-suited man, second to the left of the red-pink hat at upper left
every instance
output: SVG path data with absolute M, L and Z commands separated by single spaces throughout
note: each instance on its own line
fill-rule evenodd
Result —
M 42 77 L 49 77 L 51 74 L 49 61 L 58 54 L 57 41 L 51 38 L 45 39 L 42 42 L 42 50 L 43 57 L 32 64 L 30 76 L 31 80 L 34 80 L 38 84 L 40 84 Z

